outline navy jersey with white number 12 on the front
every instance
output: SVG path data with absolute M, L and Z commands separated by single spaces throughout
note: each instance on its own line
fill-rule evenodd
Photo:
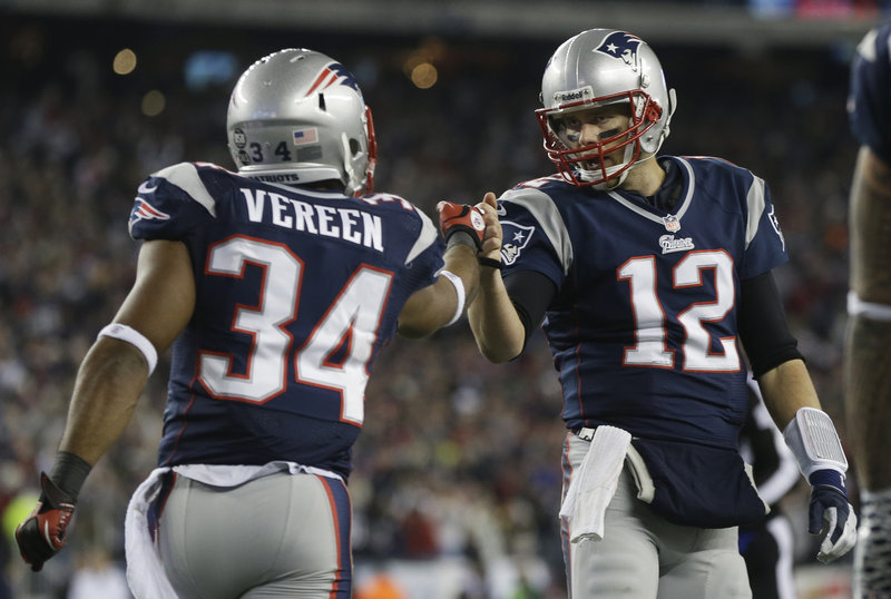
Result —
M 674 160 L 672 214 L 559 176 L 499 198 L 505 275 L 548 276 L 544 330 L 569 429 L 736 448 L 748 394 L 740 282 L 786 259 L 765 183 L 716 158 Z

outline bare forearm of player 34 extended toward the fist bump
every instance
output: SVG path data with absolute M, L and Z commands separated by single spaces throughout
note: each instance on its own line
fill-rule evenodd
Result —
M 479 291 L 477 254 L 467 245 L 456 244 L 446 251 L 444 271 L 459 276 L 464 287 L 464 308 Z M 444 276 L 409 297 L 399 315 L 399 334 L 408 338 L 424 337 L 446 326 L 458 310 L 458 293 Z

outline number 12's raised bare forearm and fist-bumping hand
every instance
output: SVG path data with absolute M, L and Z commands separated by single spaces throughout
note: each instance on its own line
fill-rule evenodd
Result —
M 501 259 L 501 224 L 496 214 L 496 196 L 486 194 L 478 204 L 486 219 L 486 238 L 480 256 Z M 501 272 L 496 268 L 480 269 L 480 293 L 468 308 L 470 330 L 482 355 L 490 362 L 513 360 L 522 352 L 526 330 L 510 301 Z

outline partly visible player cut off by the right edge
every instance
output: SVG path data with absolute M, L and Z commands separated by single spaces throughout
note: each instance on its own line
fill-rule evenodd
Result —
M 845 344 L 848 425 L 860 483 L 855 597 L 891 597 L 891 23 L 863 38 L 849 114 L 860 143 L 851 188 L 851 292 Z

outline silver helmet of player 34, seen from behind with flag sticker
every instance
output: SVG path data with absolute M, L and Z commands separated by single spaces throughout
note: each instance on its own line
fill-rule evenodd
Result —
M 320 52 L 285 49 L 254 62 L 232 91 L 226 129 L 246 177 L 336 179 L 355 196 L 374 188 L 371 109 L 343 65 Z

